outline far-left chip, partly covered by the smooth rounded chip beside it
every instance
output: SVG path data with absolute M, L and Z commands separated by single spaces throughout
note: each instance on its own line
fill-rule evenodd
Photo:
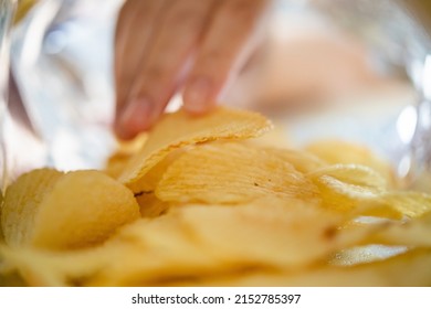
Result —
M 18 245 L 30 241 L 39 205 L 62 175 L 62 172 L 53 169 L 38 169 L 22 174 L 7 188 L 1 230 L 8 244 Z

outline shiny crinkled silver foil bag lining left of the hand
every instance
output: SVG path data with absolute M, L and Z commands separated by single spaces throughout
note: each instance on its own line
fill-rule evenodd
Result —
M 112 34 L 119 2 L 40 1 L 13 26 L 7 182 L 40 167 L 101 168 L 113 151 Z

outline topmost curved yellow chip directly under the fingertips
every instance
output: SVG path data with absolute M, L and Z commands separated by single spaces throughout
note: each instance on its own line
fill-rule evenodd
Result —
M 200 117 L 185 110 L 166 114 L 127 164 L 119 181 L 126 184 L 137 181 L 174 149 L 218 139 L 259 137 L 270 128 L 271 121 L 256 113 L 221 106 Z

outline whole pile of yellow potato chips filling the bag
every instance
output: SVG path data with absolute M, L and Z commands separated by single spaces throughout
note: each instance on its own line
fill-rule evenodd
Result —
M 364 147 L 290 149 L 271 128 L 180 110 L 105 171 L 23 174 L 1 207 L 0 284 L 431 285 L 431 195 Z

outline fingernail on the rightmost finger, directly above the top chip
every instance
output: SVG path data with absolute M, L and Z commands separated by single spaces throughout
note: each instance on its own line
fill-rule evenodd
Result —
M 185 90 L 185 108 L 190 113 L 201 114 L 208 108 L 212 84 L 208 78 L 195 79 Z

